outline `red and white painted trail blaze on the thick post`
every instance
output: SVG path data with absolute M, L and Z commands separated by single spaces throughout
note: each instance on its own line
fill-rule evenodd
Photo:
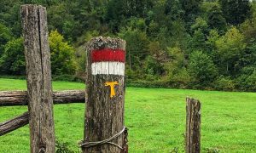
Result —
M 125 76 L 125 51 L 121 49 L 103 48 L 91 53 L 92 75 Z

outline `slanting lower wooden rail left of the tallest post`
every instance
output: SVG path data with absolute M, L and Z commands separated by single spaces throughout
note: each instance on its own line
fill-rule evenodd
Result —
M 16 129 L 28 124 L 29 113 L 28 111 L 21 116 L 17 116 L 7 122 L 0 123 L 0 136 L 15 131 Z

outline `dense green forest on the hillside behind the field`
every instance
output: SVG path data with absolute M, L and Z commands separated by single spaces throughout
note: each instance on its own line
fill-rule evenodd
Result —
M 256 91 L 256 3 L 249 0 L 3 0 L 0 74 L 24 76 L 20 5 L 47 8 L 54 79 L 85 76 L 86 42 L 121 37 L 131 86 Z

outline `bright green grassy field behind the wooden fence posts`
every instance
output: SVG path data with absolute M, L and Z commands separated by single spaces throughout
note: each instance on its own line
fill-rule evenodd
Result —
M 54 90 L 84 89 L 83 83 L 53 82 Z M 26 81 L 0 79 L 0 90 L 24 90 Z M 202 102 L 202 152 L 256 152 L 256 94 L 162 88 L 127 88 L 125 125 L 130 152 L 183 152 L 185 98 Z M 0 107 L 0 122 L 26 111 Z M 83 139 L 84 104 L 55 105 L 55 134 L 71 150 Z M 28 127 L 0 138 L 0 152 L 29 152 Z

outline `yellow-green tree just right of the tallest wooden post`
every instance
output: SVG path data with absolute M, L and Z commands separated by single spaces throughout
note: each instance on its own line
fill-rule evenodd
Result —
M 54 75 L 73 75 L 77 65 L 74 61 L 74 49 L 58 31 L 49 33 L 49 50 L 51 60 L 51 70 Z

